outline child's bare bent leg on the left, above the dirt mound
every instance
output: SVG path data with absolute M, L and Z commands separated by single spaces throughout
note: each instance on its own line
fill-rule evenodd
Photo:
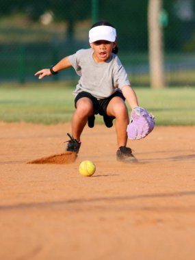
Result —
M 77 141 L 80 141 L 83 128 L 88 122 L 88 116 L 93 114 L 93 103 L 87 97 L 82 97 L 77 101 L 77 109 L 72 118 L 72 135 Z

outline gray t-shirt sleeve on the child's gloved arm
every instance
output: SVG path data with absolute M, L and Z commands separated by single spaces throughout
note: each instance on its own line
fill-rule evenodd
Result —
M 116 81 L 116 85 L 120 89 L 126 85 L 131 85 L 127 72 L 126 72 L 125 68 L 122 66 L 118 57 L 116 57 L 115 81 Z

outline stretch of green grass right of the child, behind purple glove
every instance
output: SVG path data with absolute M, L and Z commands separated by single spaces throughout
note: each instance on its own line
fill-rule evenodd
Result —
M 195 125 L 195 88 L 135 91 L 140 106 L 155 115 L 157 125 Z

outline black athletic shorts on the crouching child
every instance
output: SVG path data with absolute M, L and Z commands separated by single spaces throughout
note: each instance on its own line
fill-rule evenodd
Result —
M 109 104 L 109 101 L 114 98 L 114 96 L 120 96 L 122 100 L 125 101 L 125 97 L 123 96 L 122 92 L 116 91 L 111 96 L 107 97 L 106 99 L 96 99 L 92 94 L 82 91 L 75 97 L 75 108 L 77 108 L 77 101 L 81 99 L 82 97 L 88 97 L 94 105 L 94 114 L 100 114 L 101 116 L 107 116 L 106 110 L 107 105 Z

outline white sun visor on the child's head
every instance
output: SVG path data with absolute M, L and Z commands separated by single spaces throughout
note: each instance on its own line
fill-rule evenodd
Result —
M 89 42 L 96 42 L 96 40 L 108 40 L 109 42 L 115 42 L 116 29 L 107 25 L 100 25 L 93 27 L 89 31 Z

